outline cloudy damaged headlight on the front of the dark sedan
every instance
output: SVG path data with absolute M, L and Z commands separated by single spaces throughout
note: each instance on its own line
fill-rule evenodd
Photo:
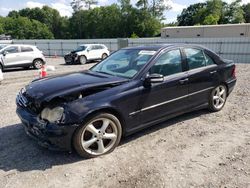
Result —
M 56 107 L 53 109 L 44 108 L 41 113 L 41 118 L 49 121 L 50 123 L 56 123 L 62 119 L 63 112 L 63 107 Z

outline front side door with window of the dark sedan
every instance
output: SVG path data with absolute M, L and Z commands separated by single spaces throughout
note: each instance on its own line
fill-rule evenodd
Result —
M 149 74 L 164 76 L 162 83 L 142 87 L 140 120 L 150 124 L 187 108 L 188 74 L 183 72 L 180 49 L 163 53 L 151 67 Z

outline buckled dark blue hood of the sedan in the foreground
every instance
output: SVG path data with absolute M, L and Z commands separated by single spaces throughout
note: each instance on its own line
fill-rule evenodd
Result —
M 26 93 L 40 102 L 50 101 L 57 96 L 125 81 L 127 79 L 84 71 L 34 81 L 26 87 Z

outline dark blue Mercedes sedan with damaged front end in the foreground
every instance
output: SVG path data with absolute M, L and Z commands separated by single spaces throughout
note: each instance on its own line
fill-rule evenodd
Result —
M 96 157 L 142 128 L 221 110 L 235 84 L 234 63 L 204 47 L 132 47 L 88 71 L 33 81 L 18 94 L 16 112 L 42 146 Z

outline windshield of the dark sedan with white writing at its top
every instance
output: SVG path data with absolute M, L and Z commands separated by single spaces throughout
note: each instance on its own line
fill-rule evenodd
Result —
M 132 78 L 155 53 L 156 51 L 149 50 L 119 50 L 90 70 L 113 76 Z

